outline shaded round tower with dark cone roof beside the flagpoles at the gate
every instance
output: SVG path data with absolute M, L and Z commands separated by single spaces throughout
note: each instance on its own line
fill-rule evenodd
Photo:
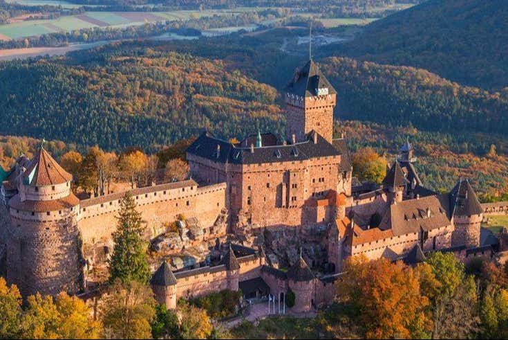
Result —
M 292 312 L 303 313 L 312 310 L 315 277 L 303 258 L 299 258 L 287 273 L 288 287 L 294 292 Z

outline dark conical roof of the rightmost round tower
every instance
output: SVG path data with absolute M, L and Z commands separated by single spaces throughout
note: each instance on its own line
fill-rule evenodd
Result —
M 471 216 L 483 213 L 483 208 L 469 184 L 469 180 L 462 177 L 450 192 L 450 206 L 453 216 Z

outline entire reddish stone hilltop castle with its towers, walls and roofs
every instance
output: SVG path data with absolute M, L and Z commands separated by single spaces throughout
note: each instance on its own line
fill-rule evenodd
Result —
M 204 132 L 187 150 L 191 179 L 131 190 L 147 239 L 185 214 L 194 221 L 185 232 L 188 244 L 225 240 L 227 233 L 237 240 L 218 242 L 208 262 L 192 267 L 172 270 L 162 262 L 151 280 L 158 301 L 175 307 L 180 297 L 241 289 L 247 298 L 272 294 L 280 303 L 291 290 L 293 310 L 305 312 L 332 301 L 349 256 L 413 264 L 430 251 L 453 251 L 462 260 L 493 252 L 480 238 L 484 208 L 469 181 L 459 179 L 446 194 L 424 188 L 409 142 L 382 186 L 352 186 L 346 140 L 332 136 L 336 96 L 310 60 L 285 88 L 283 141 L 258 132 L 231 143 Z M 124 193 L 79 200 L 71 181 L 43 147 L 4 176 L 7 278 L 23 295 L 82 291 L 93 262 L 89 250 L 111 247 Z M 326 253 L 325 273 L 314 274 L 305 253 L 286 271 L 268 263 L 262 246 L 238 244 L 273 227 L 325 231 L 314 235 Z

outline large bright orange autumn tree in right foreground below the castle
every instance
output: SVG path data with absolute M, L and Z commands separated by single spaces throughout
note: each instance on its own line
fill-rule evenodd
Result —
M 420 294 L 420 280 L 410 267 L 353 257 L 344 273 L 337 296 L 357 313 L 367 338 L 417 338 L 431 330 L 425 313 L 429 300 Z

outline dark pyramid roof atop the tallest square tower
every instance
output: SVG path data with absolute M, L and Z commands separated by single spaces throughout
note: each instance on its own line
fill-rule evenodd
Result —
M 303 68 L 294 73 L 293 79 L 284 91 L 301 97 L 311 97 L 317 96 L 317 89 L 323 88 L 328 88 L 328 94 L 337 93 L 316 63 L 309 60 Z

